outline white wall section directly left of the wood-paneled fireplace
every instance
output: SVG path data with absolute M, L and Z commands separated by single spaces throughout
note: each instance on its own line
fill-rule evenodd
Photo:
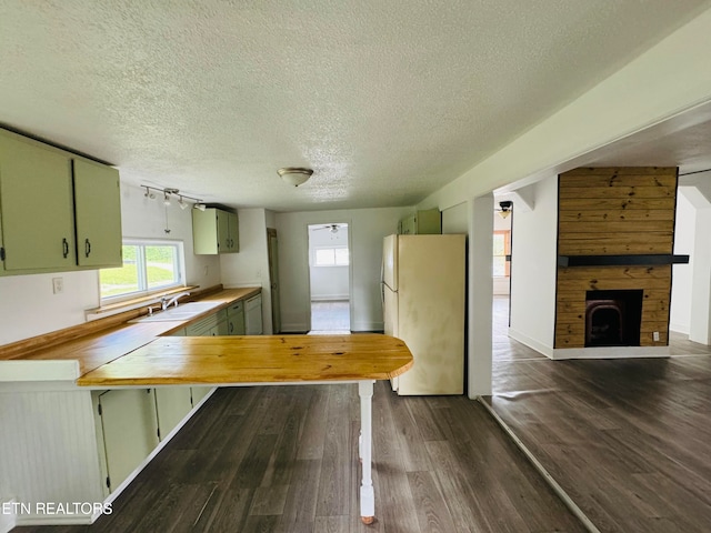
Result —
M 513 214 L 509 335 L 552 355 L 555 323 L 558 177 L 534 185 L 535 208 Z

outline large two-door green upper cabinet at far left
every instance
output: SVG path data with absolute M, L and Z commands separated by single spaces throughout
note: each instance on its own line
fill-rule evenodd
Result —
M 116 169 L 0 130 L 0 275 L 120 266 L 120 201 Z

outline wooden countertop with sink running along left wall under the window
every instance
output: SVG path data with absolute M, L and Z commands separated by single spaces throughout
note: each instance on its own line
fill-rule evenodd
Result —
M 216 306 L 193 316 L 190 321 L 128 322 L 91 331 L 73 340 L 52 342 L 54 333 L 40 335 L 28 341 L 0 346 L 0 361 L 68 361 L 79 363 L 79 374 L 83 375 L 99 366 L 121 358 L 143 346 L 160 335 L 171 334 L 190 322 L 217 313 L 237 300 L 246 300 L 259 294 L 261 288 L 224 289 L 208 293 L 200 302 L 214 302 Z M 136 316 L 131 316 L 136 318 Z M 91 323 L 80 328 L 91 328 Z M 62 332 L 60 332 L 62 333 Z M 44 348 L 47 346 L 47 348 Z

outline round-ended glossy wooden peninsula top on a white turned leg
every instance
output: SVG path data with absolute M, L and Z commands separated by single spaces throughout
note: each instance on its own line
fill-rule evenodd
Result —
M 78 385 L 387 380 L 412 366 L 400 339 L 381 334 L 159 338 L 93 370 Z

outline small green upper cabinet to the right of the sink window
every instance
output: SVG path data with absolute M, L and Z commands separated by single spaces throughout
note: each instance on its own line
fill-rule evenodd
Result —
M 234 253 L 240 251 L 237 213 L 208 208 L 192 210 L 192 244 L 196 254 Z

